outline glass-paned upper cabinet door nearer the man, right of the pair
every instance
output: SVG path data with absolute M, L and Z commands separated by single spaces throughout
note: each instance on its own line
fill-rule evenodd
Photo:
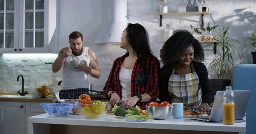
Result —
M 20 0 L 19 53 L 49 53 L 49 0 Z

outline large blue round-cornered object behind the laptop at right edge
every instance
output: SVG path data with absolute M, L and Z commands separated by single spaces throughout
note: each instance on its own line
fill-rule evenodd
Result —
M 256 64 L 240 64 L 233 69 L 233 90 L 251 90 L 246 111 L 246 134 L 256 134 Z

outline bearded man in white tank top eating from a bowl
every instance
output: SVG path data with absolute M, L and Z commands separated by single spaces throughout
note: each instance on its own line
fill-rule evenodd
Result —
M 83 35 L 74 31 L 69 36 L 69 47 L 64 47 L 52 64 L 52 72 L 56 73 L 63 67 L 60 99 L 78 99 L 82 94 L 89 94 L 88 74 L 100 77 L 100 67 L 93 50 L 83 46 Z M 73 67 L 70 61 L 84 60 L 84 65 Z

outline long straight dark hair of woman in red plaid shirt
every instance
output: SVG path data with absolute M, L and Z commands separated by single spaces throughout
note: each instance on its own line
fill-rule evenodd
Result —
M 154 56 L 149 46 L 148 32 L 142 25 L 128 23 L 126 31 L 131 47 L 136 52 L 138 59 L 140 59 L 141 54 Z

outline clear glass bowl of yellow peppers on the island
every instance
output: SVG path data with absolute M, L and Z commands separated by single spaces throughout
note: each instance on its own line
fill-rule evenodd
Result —
M 79 110 L 85 118 L 99 119 L 107 113 L 109 106 L 109 103 L 97 100 L 91 104 L 79 103 Z

